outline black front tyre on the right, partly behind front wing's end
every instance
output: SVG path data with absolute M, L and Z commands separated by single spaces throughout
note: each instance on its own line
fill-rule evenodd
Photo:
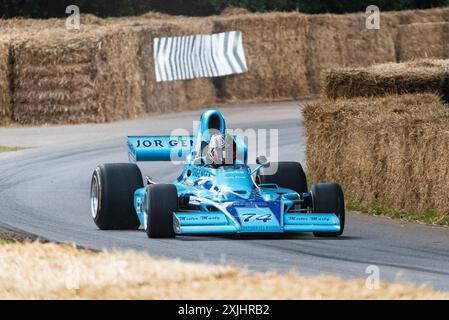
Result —
M 345 199 L 337 183 L 318 183 L 312 186 L 313 212 L 335 213 L 340 219 L 339 232 L 314 232 L 315 237 L 339 237 L 345 229 Z

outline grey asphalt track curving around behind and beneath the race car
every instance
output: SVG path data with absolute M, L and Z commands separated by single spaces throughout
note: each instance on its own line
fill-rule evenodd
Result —
M 224 108 L 233 128 L 279 130 L 284 160 L 304 162 L 303 124 L 297 103 Z M 133 249 L 186 261 L 236 264 L 249 270 L 367 277 L 376 265 L 383 281 L 401 279 L 449 289 L 449 228 L 349 213 L 344 237 L 182 236 L 149 240 L 143 231 L 99 231 L 89 212 L 95 166 L 126 162 L 126 134 L 169 134 L 192 130 L 200 111 L 106 125 L 0 129 L 0 145 L 32 147 L 0 159 L 0 226 L 49 240 L 95 249 Z M 146 163 L 155 180 L 175 178 L 179 168 Z M 144 270 L 142 270 L 144 272 Z

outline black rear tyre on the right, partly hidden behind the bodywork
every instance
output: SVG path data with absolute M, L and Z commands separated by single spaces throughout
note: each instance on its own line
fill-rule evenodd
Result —
M 270 168 L 276 165 L 278 170 L 273 175 L 268 175 Z M 257 177 L 259 184 L 274 183 L 281 188 L 288 188 L 300 195 L 307 192 L 307 178 L 300 163 L 278 162 L 272 163 L 268 168 L 261 168 Z

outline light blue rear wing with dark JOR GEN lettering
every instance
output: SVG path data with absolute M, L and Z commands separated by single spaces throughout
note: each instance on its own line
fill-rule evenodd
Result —
M 234 136 L 237 159 L 246 163 L 248 150 L 244 141 Z M 132 163 L 141 161 L 185 161 L 195 145 L 193 136 L 131 136 L 128 137 L 128 156 Z

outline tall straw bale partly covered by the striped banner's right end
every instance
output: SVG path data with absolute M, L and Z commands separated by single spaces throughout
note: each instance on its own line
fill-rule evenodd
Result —
M 219 97 L 227 102 L 242 102 L 292 100 L 310 95 L 305 15 L 243 14 L 212 20 L 214 32 L 243 32 L 248 64 L 247 73 L 218 81 Z

